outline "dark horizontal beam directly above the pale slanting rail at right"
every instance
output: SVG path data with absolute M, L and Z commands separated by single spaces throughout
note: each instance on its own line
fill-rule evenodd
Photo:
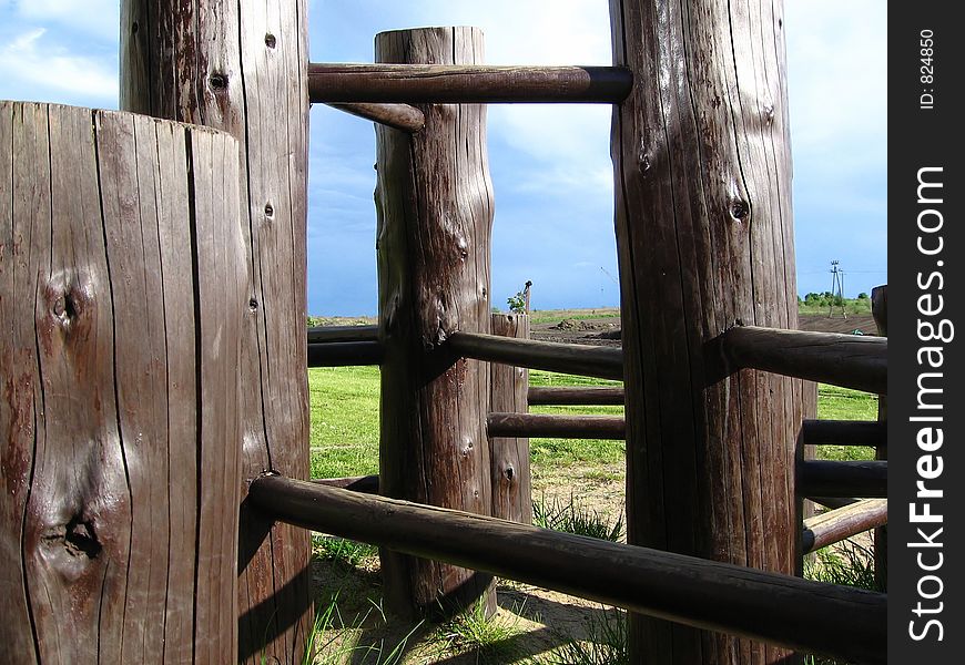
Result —
M 798 493 L 802 497 L 887 497 L 888 463 L 878 461 L 798 462 Z

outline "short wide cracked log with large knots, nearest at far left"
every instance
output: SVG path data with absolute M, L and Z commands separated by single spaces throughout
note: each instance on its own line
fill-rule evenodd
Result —
M 0 145 L 2 659 L 235 662 L 237 143 L 0 102 Z

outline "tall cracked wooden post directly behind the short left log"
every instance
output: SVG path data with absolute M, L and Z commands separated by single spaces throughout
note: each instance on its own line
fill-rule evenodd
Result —
M 308 477 L 305 0 L 122 0 L 121 105 L 225 130 L 241 152 L 251 282 L 242 409 L 241 657 L 301 661 L 308 533 L 248 510 L 265 470 Z

